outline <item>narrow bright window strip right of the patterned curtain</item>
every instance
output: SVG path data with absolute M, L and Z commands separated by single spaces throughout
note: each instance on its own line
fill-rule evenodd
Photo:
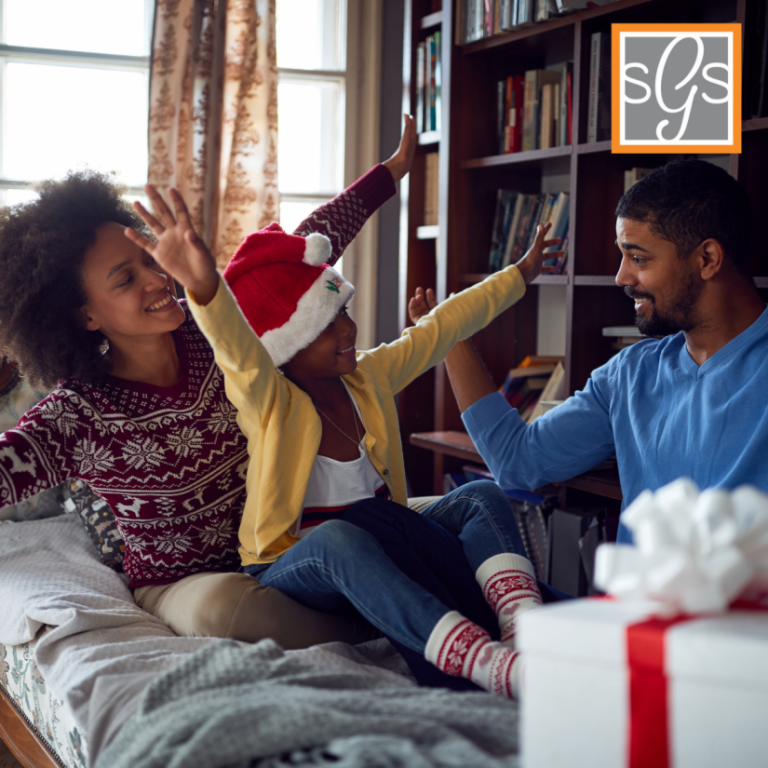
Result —
M 277 0 L 280 221 L 344 188 L 346 0 Z

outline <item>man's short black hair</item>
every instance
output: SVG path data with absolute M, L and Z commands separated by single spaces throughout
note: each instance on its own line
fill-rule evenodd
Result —
M 685 258 L 708 238 L 749 276 L 752 213 L 749 195 L 722 168 L 704 160 L 674 160 L 638 181 L 619 200 L 616 216 L 647 223 Z

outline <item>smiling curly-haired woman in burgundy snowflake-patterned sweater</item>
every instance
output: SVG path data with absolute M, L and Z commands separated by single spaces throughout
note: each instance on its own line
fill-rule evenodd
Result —
M 415 141 L 415 137 L 412 137 Z M 302 223 L 338 258 L 395 189 L 409 137 Z M 359 642 L 359 617 L 307 609 L 236 573 L 246 440 L 224 379 L 173 280 L 123 236 L 143 224 L 95 173 L 0 212 L 0 348 L 54 391 L 0 435 L 0 507 L 70 477 L 114 511 L 143 608 L 178 634 Z

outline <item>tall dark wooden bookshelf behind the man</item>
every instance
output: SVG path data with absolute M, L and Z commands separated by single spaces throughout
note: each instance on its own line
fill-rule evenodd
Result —
M 541 344 L 538 331 L 553 300 L 564 316 L 562 353 L 568 393 L 584 386 L 591 371 L 614 350 L 602 336 L 609 325 L 631 325 L 633 307 L 614 282 L 619 252 L 614 244 L 614 210 L 623 193 L 624 171 L 655 167 L 673 155 L 611 154 L 610 141 L 588 143 L 589 44 L 593 32 L 609 32 L 612 23 L 744 24 L 752 0 L 618 0 L 618 2 L 502 33 L 466 45 L 456 44 L 456 2 L 405 0 L 403 111 L 415 104 L 415 50 L 436 28 L 442 31 L 442 130 L 420 137 L 413 170 L 401 188 L 399 323 L 408 324 L 407 301 L 414 289 L 434 287 L 442 300 L 482 280 L 499 188 L 525 193 L 568 191 L 570 231 L 568 274 L 543 275 L 475 344 L 497 383 Z M 442 7 L 441 7 L 442 6 Z M 498 155 L 496 83 L 509 74 L 573 63 L 573 138 L 571 146 Z M 746 100 L 745 100 L 746 101 Z M 423 223 L 427 153 L 439 151 L 438 223 L 429 239 L 419 237 Z M 768 118 L 742 123 L 741 155 L 704 155 L 744 184 L 755 222 L 768 208 Z M 755 227 L 755 230 L 757 227 Z M 752 274 L 768 301 L 768 253 L 755 231 Z M 554 297 L 554 298 L 553 298 Z M 400 397 L 406 466 L 415 494 L 441 492 L 442 476 L 458 471 L 462 457 L 451 440 L 431 442 L 423 433 L 462 432 L 443 366 L 417 380 Z M 419 433 L 413 443 L 409 437 Z M 425 450 L 427 448 L 428 450 Z M 463 455 L 463 454 L 462 454 Z M 605 478 L 603 478 L 605 479 Z M 609 482 L 608 485 L 611 485 Z M 600 493 L 600 482 L 578 487 Z M 611 486 L 613 487 L 613 486 Z M 597 488 L 597 490 L 595 490 Z

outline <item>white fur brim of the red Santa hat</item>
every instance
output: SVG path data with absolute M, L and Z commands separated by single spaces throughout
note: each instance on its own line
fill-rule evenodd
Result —
M 297 352 L 308 347 L 354 295 L 355 287 L 352 283 L 335 269 L 324 269 L 299 299 L 296 311 L 288 322 L 261 336 L 261 343 L 269 352 L 275 367 L 279 368 Z

